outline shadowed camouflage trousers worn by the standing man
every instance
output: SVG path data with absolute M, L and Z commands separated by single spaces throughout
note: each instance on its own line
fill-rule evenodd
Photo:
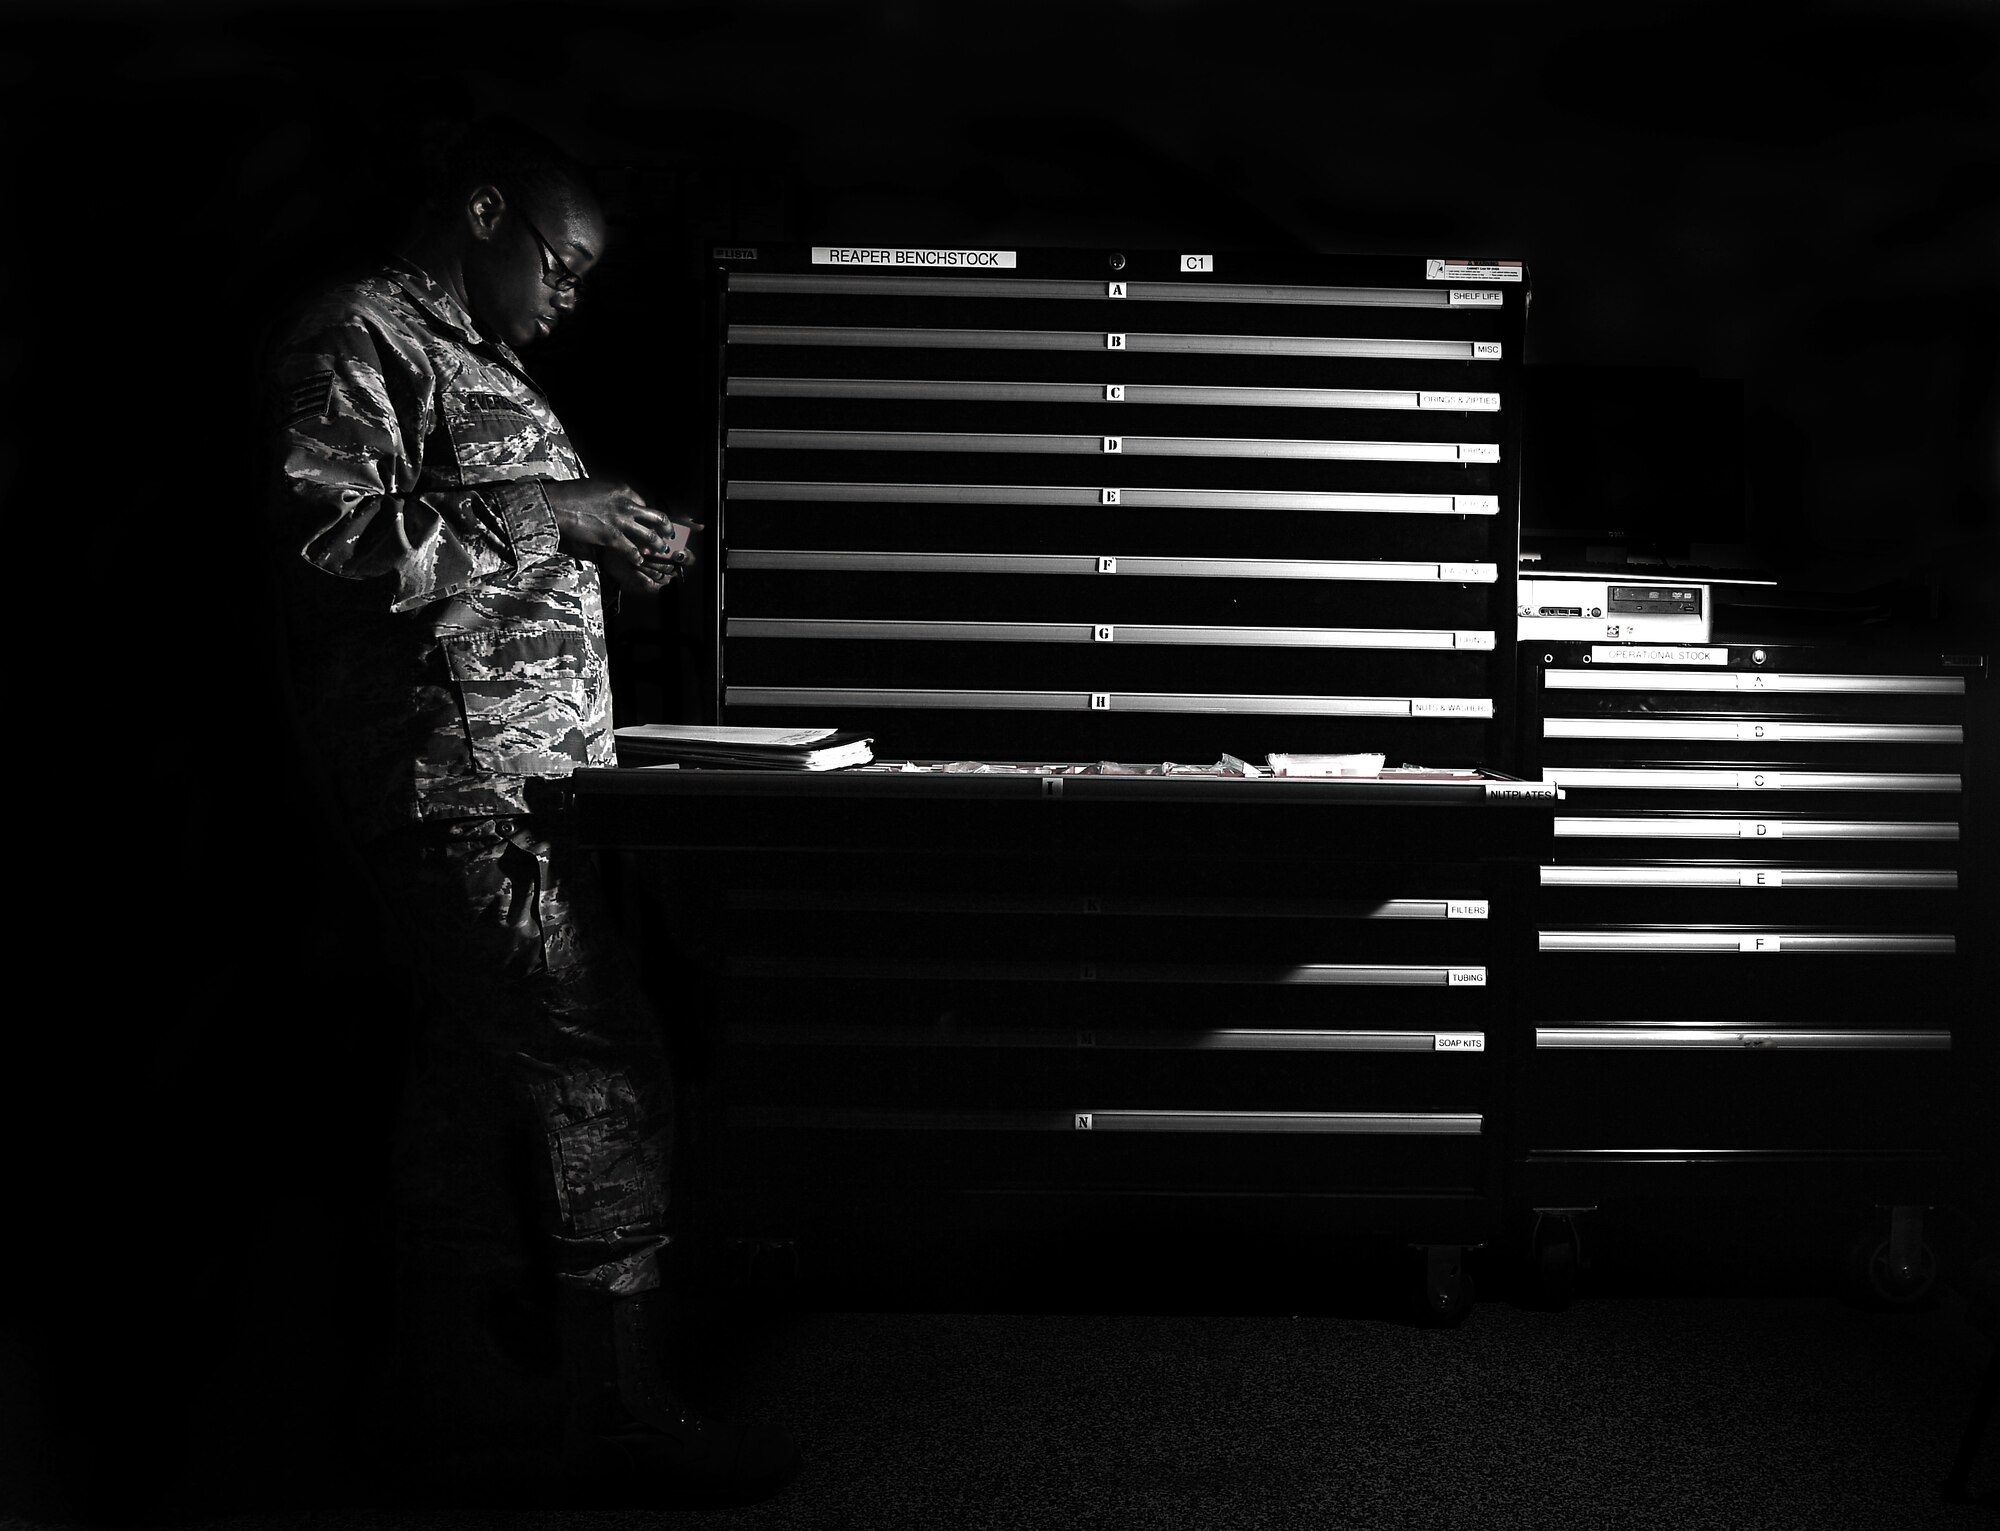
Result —
M 404 1249 L 500 1279 L 660 1285 L 672 1085 L 588 851 L 532 815 L 414 825 L 366 857 L 424 987 L 394 1151 Z

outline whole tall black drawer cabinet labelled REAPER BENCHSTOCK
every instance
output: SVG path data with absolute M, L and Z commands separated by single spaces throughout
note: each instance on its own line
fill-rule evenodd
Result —
M 716 712 L 916 762 L 1512 740 L 1518 262 L 718 252 Z M 678 775 L 678 781 L 664 777 Z M 742 1229 L 1498 1207 L 1478 783 L 586 773 L 672 847 Z M 652 827 L 644 827 L 642 819 Z

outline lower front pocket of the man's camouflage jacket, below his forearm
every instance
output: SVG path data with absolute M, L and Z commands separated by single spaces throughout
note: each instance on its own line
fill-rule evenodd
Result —
M 560 775 L 588 760 L 602 662 L 586 634 L 540 628 L 442 642 L 476 771 Z

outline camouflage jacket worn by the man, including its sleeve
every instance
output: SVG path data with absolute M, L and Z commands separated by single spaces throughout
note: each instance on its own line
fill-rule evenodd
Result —
M 520 358 L 390 266 L 308 304 L 270 382 L 292 684 L 356 833 L 616 764 L 598 572 L 542 490 L 584 466 Z

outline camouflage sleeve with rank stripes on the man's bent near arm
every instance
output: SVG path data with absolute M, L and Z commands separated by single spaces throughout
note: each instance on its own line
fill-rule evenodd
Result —
M 296 332 L 272 366 L 286 538 L 326 574 L 380 582 L 392 612 L 558 556 L 538 480 L 416 492 L 428 372 L 422 348 L 352 312 Z

